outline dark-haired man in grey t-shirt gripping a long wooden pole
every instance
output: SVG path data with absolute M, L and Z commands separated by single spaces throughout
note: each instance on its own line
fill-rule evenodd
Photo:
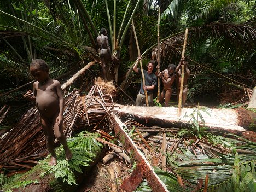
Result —
M 141 60 L 141 56 L 138 56 L 138 61 L 133 66 L 133 71 L 136 73 L 142 74 L 141 69 L 137 68 L 139 60 Z M 144 94 L 144 90 L 147 91 L 148 95 L 148 104 L 149 106 L 153 106 L 153 90 L 155 88 L 156 82 L 156 76 L 153 73 L 155 62 L 149 61 L 147 65 L 147 71 L 143 69 L 144 77 L 145 77 L 145 85 L 143 86 L 142 79 L 141 79 L 141 89 L 139 90 L 139 93 L 136 98 L 136 106 L 143 106 L 143 104 L 146 104 L 146 98 Z

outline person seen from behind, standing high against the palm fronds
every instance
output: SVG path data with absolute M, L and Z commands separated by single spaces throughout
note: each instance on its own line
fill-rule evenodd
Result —
M 100 53 L 103 78 L 106 80 L 106 66 L 112 61 L 112 53 L 108 43 L 108 32 L 106 28 L 102 28 L 100 36 L 97 37 L 96 50 Z

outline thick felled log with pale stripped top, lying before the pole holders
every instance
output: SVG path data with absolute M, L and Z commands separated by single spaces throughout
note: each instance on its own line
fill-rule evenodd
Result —
M 156 125 L 162 127 L 188 127 L 191 120 L 190 114 L 195 112 L 193 108 L 183 108 L 181 117 L 177 117 L 176 107 L 140 107 L 116 105 L 114 112 L 121 117 L 128 115 L 140 123 L 148 126 Z M 199 109 L 200 111 L 200 109 Z M 208 109 L 208 113 L 200 111 L 203 120 L 198 118 L 200 126 L 208 127 L 212 131 L 242 133 L 246 129 L 255 129 L 256 113 L 251 110 L 237 109 Z M 196 117 L 195 117 L 196 118 Z

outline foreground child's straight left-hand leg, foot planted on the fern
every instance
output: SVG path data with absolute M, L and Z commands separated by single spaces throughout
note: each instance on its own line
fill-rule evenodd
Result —
M 51 160 L 49 165 L 56 165 L 57 164 L 57 156 L 54 150 L 54 133 L 53 133 L 53 126 L 48 118 L 40 117 L 41 125 L 45 134 L 46 138 L 46 146 L 49 149 L 51 154 Z

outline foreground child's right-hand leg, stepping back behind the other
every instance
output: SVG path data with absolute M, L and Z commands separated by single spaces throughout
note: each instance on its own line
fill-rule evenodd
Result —
M 69 149 L 69 147 L 67 145 L 66 136 L 63 133 L 63 122 L 61 122 L 60 125 L 58 126 L 56 124 L 56 119 L 55 119 L 53 121 L 53 123 L 54 123 L 55 137 L 63 145 L 63 149 L 65 150 L 65 154 L 66 154 L 66 160 L 68 161 L 68 160 L 70 160 L 72 158 L 72 153 L 71 153 L 71 150 Z

